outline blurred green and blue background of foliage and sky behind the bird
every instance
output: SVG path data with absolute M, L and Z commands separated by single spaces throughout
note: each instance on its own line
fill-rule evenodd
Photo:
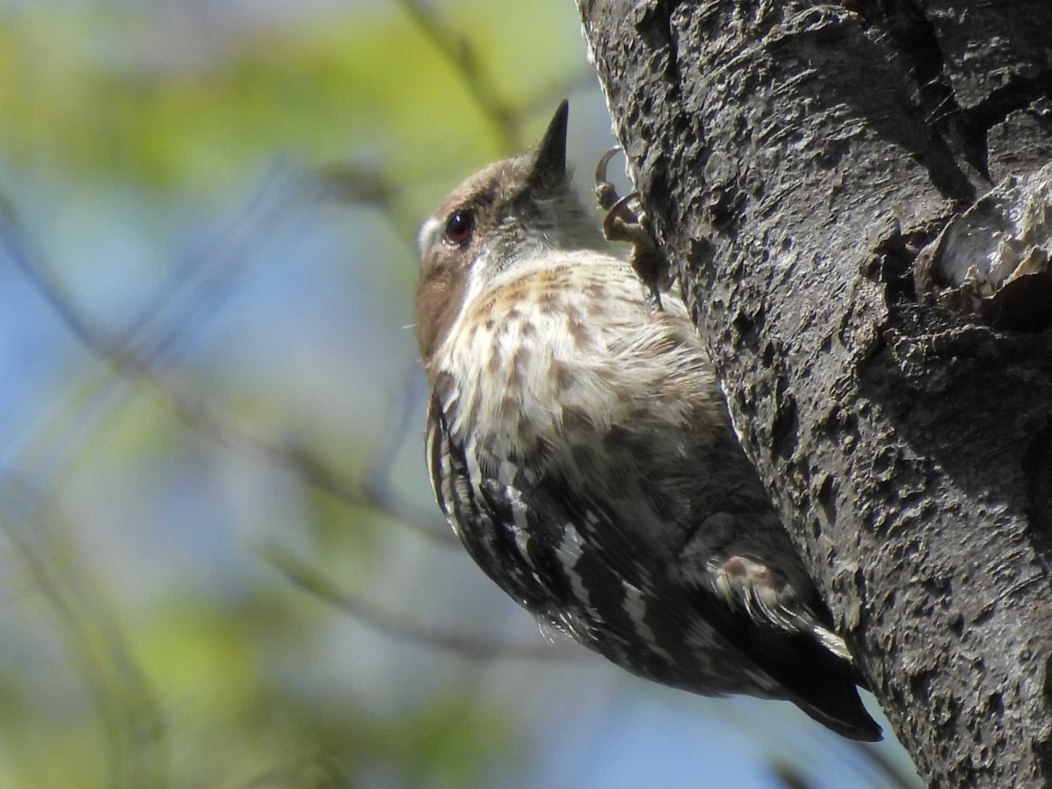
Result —
M 0 787 L 912 785 L 547 644 L 439 519 L 414 230 L 564 96 L 587 173 L 566 0 L 0 1 Z

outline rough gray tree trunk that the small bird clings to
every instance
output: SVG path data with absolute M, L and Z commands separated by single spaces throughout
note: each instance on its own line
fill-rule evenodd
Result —
M 934 787 L 1052 785 L 1052 3 L 579 7 L 735 426 L 896 735 Z

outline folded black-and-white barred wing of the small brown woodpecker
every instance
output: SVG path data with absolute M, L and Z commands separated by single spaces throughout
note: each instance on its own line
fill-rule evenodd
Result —
M 660 574 L 639 530 L 622 527 L 607 504 L 550 470 L 489 457 L 470 431 L 460 440 L 456 390 L 448 376 L 440 379 L 426 442 L 436 499 L 505 592 L 646 679 L 707 695 L 785 697 L 782 684 L 721 632 L 722 604 Z M 715 622 L 701 613 L 706 607 Z

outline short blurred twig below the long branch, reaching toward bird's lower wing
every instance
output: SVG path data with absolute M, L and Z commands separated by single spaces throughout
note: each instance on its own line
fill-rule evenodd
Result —
M 301 562 L 290 552 L 275 546 L 259 548 L 264 559 L 281 570 L 297 586 L 351 614 L 357 621 L 403 641 L 411 641 L 424 646 L 443 649 L 474 661 L 500 659 L 519 660 L 567 660 L 584 654 L 583 650 L 572 651 L 545 644 L 537 647 L 497 644 L 470 635 L 454 634 L 428 627 L 419 622 L 400 618 L 372 606 L 361 596 L 341 589 L 332 581 L 324 578 L 313 567 Z

